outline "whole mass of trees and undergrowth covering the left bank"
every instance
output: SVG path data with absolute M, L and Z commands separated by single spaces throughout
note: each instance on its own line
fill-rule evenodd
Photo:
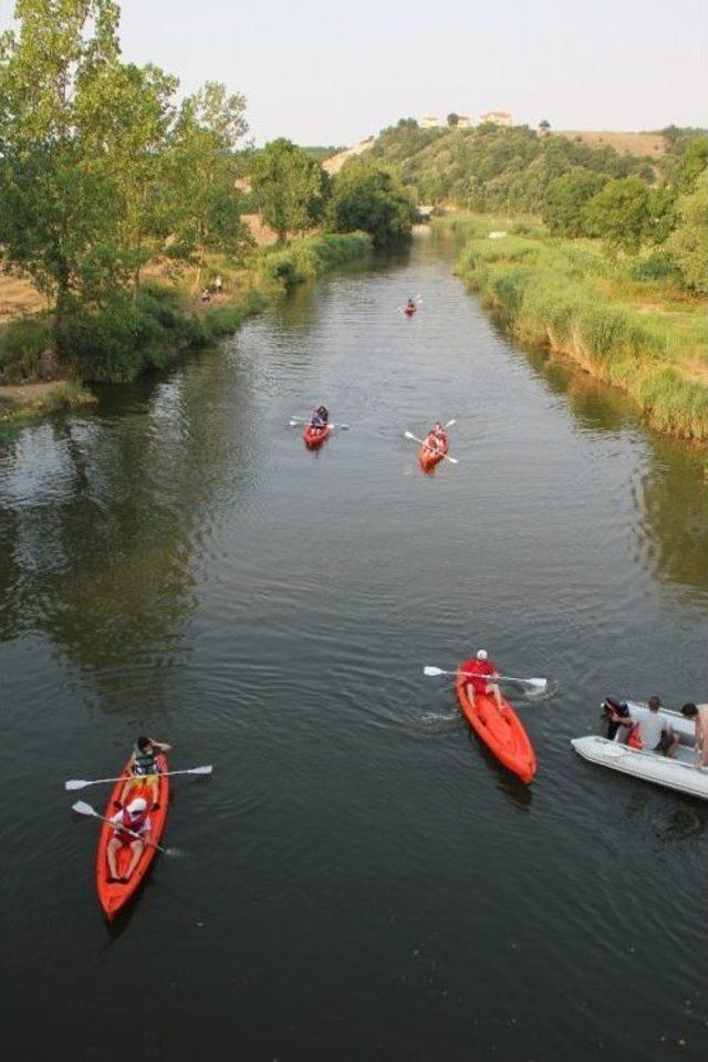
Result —
M 367 252 L 361 233 L 256 248 L 247 207 L 283 246 L 322 220 L 319 153 L 244 150 L 241 94 L 207 82 L 179 101 L 176 77 L 124 63 L 115 0 L 15 0 L 14 15 L 0 38 L 2 268 L 48 310 L 0 330 L 0 383 L 131 379 Z M 209 305 L 218 274 L 227 293 Z

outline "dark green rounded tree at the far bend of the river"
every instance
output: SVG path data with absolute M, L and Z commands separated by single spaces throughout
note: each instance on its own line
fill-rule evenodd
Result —
M 410 238 L 414 206 L 399 178 L 375 159 L 355 158 L 334 179 L 327 227 L 368 232 L 375 246 Z

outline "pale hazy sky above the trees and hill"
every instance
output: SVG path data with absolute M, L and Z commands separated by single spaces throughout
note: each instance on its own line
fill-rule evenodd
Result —
M 0 0 L 7 25 L 12 0 Z M 350 145 L 399 117 L 708 126 L 708 0 L 123 0 L 123 52 L 223 81 L 257 144 Z

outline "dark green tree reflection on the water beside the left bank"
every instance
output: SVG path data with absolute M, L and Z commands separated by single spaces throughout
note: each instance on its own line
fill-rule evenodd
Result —
M 155 696 L 187 652 L 195 565 L 248 466 L 251 415 L 221 352 L 101 398 L 0 452 L 0 638 L 44 634 L 110 708 L 124 662 Z

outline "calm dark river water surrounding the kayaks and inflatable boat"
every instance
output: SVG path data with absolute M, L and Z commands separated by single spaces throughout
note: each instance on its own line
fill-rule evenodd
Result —
M 607 691 L 708 699 L 702 459 L 452 262 L 421 239 L 0 444 L 12 1059 L 708 1056 L 708 806 L 569 745 Z M 351 430 L 311 454 L 321 400 Z M 479 646 L 558 684 L 516 701 L 530 789 L 423 677 Z M 215 773 L 110 928 L 63 781 L 140 731 Z

